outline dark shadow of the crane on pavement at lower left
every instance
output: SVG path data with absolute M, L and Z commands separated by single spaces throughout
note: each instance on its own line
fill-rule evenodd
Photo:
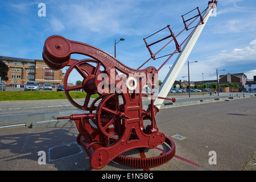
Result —
M 89 158 L 76 143 L 77 134 L 73 124 L 59 128 L 2 130 L 0 170 L 88 169 Z M 39 155 L 39 151 L 45 155 Z

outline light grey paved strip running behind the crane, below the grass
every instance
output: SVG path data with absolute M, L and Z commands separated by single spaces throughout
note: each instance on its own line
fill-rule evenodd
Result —
M 209 102 L 232 101 L 243 98 L 255 97 L 254 93 L 220 93 L 220 96 L 209 94 L 171 94 L 168 98 L 175 97 L 176 102 L 165 100 L 161 109 L 184 105 L 206 104 Z M 76 99 L 82 105 L 84 99 Z M 89 105 L 93 100 L 90 101 Z M 122 101 L 121 101 L 122 102 Z M 143 109 L 147 109 L 150 99 L 143 97 Z M 0 101 L 0 129 L 6 127 L 41 127 L 68 123 L 67 119 L 57 120 L 71 114 L 80 114 L 84 111 L 77 109 L 68 100 L 33 100 L 33 101 Z

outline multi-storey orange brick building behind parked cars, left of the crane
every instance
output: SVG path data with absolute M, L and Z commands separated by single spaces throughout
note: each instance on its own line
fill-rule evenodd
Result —
M 17 57 L 0 56 L 8 67 L 9 80 L 6 85 L 19 84 L 20 86 L 27 81 L 38 81 L 40 84 L 63 84 L 64 73 L 62 69 L 53 71 L 49 69 L 43 60 L 22 59 Z

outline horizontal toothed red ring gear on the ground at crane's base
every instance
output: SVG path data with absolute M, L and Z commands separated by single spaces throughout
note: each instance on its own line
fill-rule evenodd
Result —
M 136 168 L 152 168 L 161 166 L 169 162 L 175 156 L 175 143 L 168 137 L 165 142 L 170 146 L 170 150 L 162 152 L 159 156 L 151 158 L 133 158 L 129 156 L 119 155 L 113 161 L 123 166 L 136 167 Z M 143 148 L 139 148 L 143 152 Z

